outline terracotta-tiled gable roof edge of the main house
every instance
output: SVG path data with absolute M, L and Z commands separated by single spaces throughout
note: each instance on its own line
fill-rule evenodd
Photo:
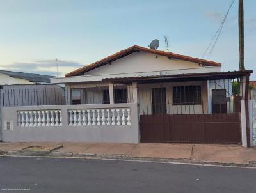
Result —
M 95 68 L 98 68 L 100 66 L 111 63 L 112 61 L 115 61 L 116 59 L 120 59 L 120 58 L 123 58 L 124 56 L 132 54 L 134 52 L 140 52 L 140 51 L 144 51 L 144 52 L 148 52 L 148 53 L 152 53 L 152 54 L 157 54 L 157 55 L 161 55 L 161 56 L 166 56 L 168 58 L 182 59 L 182 60 L 185 60 L 185 61 L 191 61 L 191 62 L 195 62 L 195 63 L 202 63 L 202 65 L 205 65 L 205 66 L 221 66 L 221 63 L 216 63 L 214 61 L 209 61 L 209 60 L 199 59 L 199 58 L 193 58 L 193 57 L 190 57 L 190 56 L 175 54 L 175 53 L 172 53 L 172 52 L 164 52 L 164 51 L 160 51 L 160 50 L 148 49 L 146 47 L 141 47 L 141 46 L 138 46 L 138 45 L 133 45 L 132 47 L 121 50 L 120 52 L 116 52 L 115 54 L 112 54 L 111 56 L 100 59 L 99 61 L 96 61 L 95 63 L 83 66 L 82 68 L 78 68 L 77 70 L 69 72 L 69 73 L 65 74 L 65 76 L 70 77 L 70 76 L 81 75 L 81 73 L 88 72 L 88 71 L 93 70 Z

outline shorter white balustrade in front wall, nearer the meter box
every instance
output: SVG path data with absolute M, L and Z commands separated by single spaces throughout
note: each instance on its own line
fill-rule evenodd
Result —
M 62 126 L 61 110 L 17 111 L 20 127 Z

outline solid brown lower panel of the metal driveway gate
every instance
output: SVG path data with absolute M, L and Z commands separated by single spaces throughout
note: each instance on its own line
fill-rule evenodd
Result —
M 143 143 L 240 144 L 240 114 L 140 115 Z

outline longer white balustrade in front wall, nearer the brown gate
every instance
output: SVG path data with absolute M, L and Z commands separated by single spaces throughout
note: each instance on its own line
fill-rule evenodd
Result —
M 70 109 L 69 125 L 131 125 L 131 109 Z

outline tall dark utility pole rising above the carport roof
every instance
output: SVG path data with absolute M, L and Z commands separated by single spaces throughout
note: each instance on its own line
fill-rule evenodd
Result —
M 238 4 L 238 26 L 239 26 L 239 70 L 244 68 L 244 1 L 239 0 Z

